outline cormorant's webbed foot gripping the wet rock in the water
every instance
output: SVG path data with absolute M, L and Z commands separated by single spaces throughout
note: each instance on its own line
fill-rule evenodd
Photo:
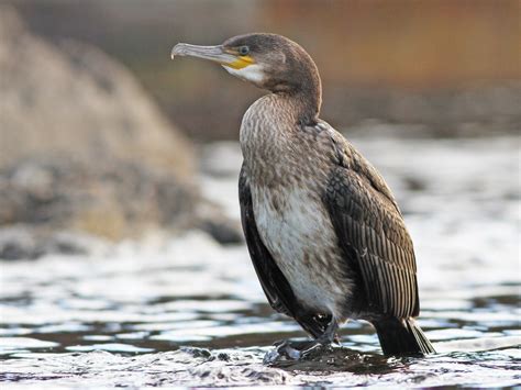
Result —
M 275 343 L 275 349 L 270 350 L 264 357 L 265 364 L 271 364 L 279 360 L 306 360 L 315 354 L 321 354 L 331 349 L 331 343 L 326 339 L 313 339 L 306 342 L 291 342 L 285 339 Z

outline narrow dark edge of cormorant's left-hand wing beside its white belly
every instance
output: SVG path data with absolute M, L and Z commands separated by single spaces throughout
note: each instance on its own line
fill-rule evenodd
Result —
M 297 301 L 288 280 L 264 245 L 255 223 L 252 193 L 244 164 L 239 178 L 239 202 L 250 257 L 269 304 L 279 313 L 292 316 L 313 337 L 319 337 L 324 333 L 331 315 L 309 312 Z

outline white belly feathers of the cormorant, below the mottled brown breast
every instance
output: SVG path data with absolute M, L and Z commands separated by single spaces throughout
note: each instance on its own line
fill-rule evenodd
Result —
M 336 236 L 320 201 L 299 187 L 252 185 L 252 197 L 260 237 L 297 299 L 342 320 L 341 307 L 350 291 Z

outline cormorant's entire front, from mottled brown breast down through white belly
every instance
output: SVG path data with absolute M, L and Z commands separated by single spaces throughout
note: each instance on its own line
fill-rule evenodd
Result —
M 257 230 L 297 299 L 345 317 L 351 282 L 322 194 L 331 172 L 328 138 L 298 127 L 274 94 L 244 114 L 241 148 Z

